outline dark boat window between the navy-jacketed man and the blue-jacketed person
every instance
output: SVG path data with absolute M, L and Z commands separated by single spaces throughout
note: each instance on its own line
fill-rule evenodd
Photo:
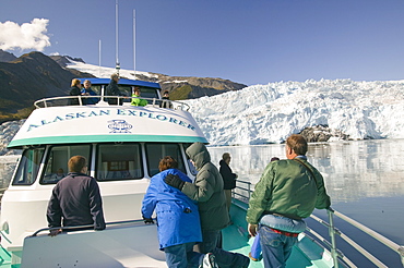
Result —
M 98 181 L 143 178 L 140 144 L 100 144 L 97 150 L 95 176 Z

